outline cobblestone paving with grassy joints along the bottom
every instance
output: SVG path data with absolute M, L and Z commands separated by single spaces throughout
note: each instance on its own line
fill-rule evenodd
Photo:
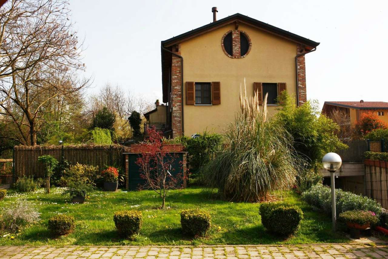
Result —
M 203 247 L 0 247 L 0 258 L 112 259 L 356 259 L 388 258 L 386 243 Z

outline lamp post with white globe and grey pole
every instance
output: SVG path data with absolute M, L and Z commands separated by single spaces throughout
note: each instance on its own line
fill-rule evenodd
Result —
M 334 186 L 334 173 L 341 167 L 341 157 L 333 152 L 327 153 L 322 158 L 322 164 L 330 172 L 331 180 L 331 220 L 333 223 L 333 232 L 336 231 L 336 189 Z

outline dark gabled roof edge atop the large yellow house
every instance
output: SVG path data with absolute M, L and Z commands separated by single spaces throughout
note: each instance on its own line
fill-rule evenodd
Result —
M 171 45 L 176 44 L 178 42 L 182 42 L 187 38 L 191 38 L 193 36 L 196 36 L 197 34 L 202 34 L 202 33 L 208 32 L 209 30 L 217 29 L 220 26 L 224 26 L 226 24 L 233 23 L 235 21 L 238 21 L 241 23 L 246 23 L 246 24 L 249 24 L 249 25 L 254 26 L 254 27 L 258 27 L 262 30 L 265 30 L 265 31 L 270 32 L 270 33 L 274 33 L 280 37 L 292 40 L 294 42 L 301 43 L 301 44 L 306 45 L 310 48 L 314 48 L 314 47 L 317 47 L 319 45 L 319 42 L 315 42 L 314 40 L 307 39 L 305 37 L 296 35 L 294 33 L 288 32 L 286 30 L 282 30 L 281 28 L 277 28 L 275 26 L 269 25 L 268 23 L 263 23 L 262 21 L 258 21 L 256 19 L 253 19 L 251 17 L 248 17 L 246 15 L 242 15 L 239 13 L 225 17 L 225 18 L 220 19 L 218 21 L 215 21 L 213 23 L 201 26 L 201 27 L 196 28 L 194 30 L 191 30 L 189 32 L 182 33 L 182 34 L 175 36 L 175 37 L 172 37 L 168 40 L 163 40 L 161 43 L 162 43 L 162 46 L 165 46 L 165 47 L 171 46 Z

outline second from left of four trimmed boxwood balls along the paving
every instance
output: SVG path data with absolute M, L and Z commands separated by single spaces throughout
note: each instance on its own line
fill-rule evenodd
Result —
M 113 221 L 119 235 L 127 238 L 139 234 L 143 215 L 139 210 L 120 210 L 114 212 Z

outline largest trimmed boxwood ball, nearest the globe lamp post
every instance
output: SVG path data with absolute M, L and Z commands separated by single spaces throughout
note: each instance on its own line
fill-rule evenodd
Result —
M 302 210 L 286 202 L 263 203 L 260 206 L 263 226 L 271 233 L 289 236 L 298 230 L 303 219 Z

